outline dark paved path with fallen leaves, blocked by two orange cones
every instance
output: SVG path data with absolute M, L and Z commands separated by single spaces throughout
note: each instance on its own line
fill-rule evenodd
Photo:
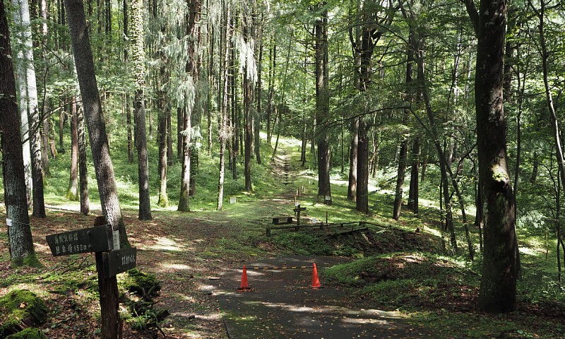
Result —
M 213 292 L 218 295 L 229 338 L 434 338 L 399 312 L 362 309 L 343 290 L 309 288 L 312 268 L 249 269 L 316 263 L 320 271 L 343 261 L 292 256 L 246 263 L 249 292 L 237 292 L 243 264 L 226 270 L 213 280 Z

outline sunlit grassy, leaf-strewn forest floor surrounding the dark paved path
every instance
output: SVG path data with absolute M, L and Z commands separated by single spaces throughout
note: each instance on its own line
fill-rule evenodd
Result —
M 351 263 L 321 272 L 322 279 L 328 285 L 350 289 L 352 297 L 366 307 L 406 312 L 413 321 L 438 333 L 437 338 L 564 337 L 565 297 L 557 285 L 552 242 L 546 244 L 540 234 L 520 234 L 523 279 L 518 283 L 518 311 L 505 315 L 476 312 L 480 258 L 470 262 L 463 251 L 453 255 L 450 249 L 444 253 L 438 232 L 439 212 L 432 199 L 434 187 L 430 184 L 434 181 L 433 168 L 429 169 L 431 179 L 422 185 L 420 215 L 405 212 L 396 221 L 388 218 L 393 200 L 386 190 L 390 185 L 388 174 L 381 173 L 371 182 L 371 215 L 361 215 L 355 212 L 355 204 L 346 199 L 345 174 L 334 170 L 333 205 L 327 206 L 316 196 L 314 172 L 299 167 L 298 145 L 295 140 L 283 140 L 273 162 L 268 161 L 272 150 L 263 147 L 263 165 L 252 167 L 254 191 L 244 192 L 239 171 L 237 180 L 226 181 L 225 205 L 220 212 L 215 210 L 216 160 L 202 153 L 191 212 L 177 213 L 174 206 L 157 208 L 157 195 L 153 194 L 154 218 L 150 222 L 136 218 L 136 165 L 121 157 L 119 145 L 113 146 L 121 204 L 129 240 L 138 248 L 138 267 L 161 281 L 156 306 L 171 312 L 160 324 L 167 338 L 226 338 L 218 304 L 208 292 L 210 278 L 255 258 L 283 254 L 355 258 Z M 152 153 L 155 155 L 154 145 L 150 156 Z M 281 166 L 285 159 L 291 165 L 287 173 Z M 31 220 L 35 249 L 44 268 L 11 268 L 7 251 L 0 251 L 0 295 L 23 288 L 44 297 L 51 313 L 42 331 L 49 338 L 93 338 L 100 318 L 93 256 L 54 258 L 44 239 L 47 234 L 90 227 L 94 216 L 80 215 L 76 212 L 78 203 L 62 198 L 69 175 L 68 155 L 61 154 L 51 165 L 46 201 L 52 208 L 46 219 Z M 238 166 L 241 170 L 242 165 Z M 178 167 L 175 165 L 169 172 L 172 203 L 178 199 Z M 292 184 L 284 184 L 286 174 Z M 155 192 L 155 179 L 150 186 Z M 91 178 L 93 214 L 100 215 L 95 210 L 95 187 Z M 312 230 L 273 230 L 272 236 L 267 237 L 270 218 L 292 215 L 297 190 L 297 203 L 307 208 L 302 222 L 327 218 L 328 222 L 364 220 L 376 225 L 369 226 L 367 232 L 341 236 Z M 230 203 L 230 198 L 236 198 L 236 203 Z M 421 232 L 415 232 L 417 227 Z M 477 244 L 475 231 L 472 230 L 472 236 Z M 457 234 L 460 247 L 464 247 L 463 230 L 458 228 Z M 0 232 L 0 243 L 7 243 L 5 230 Z M 127 315 L 124 311 L 124 316 L 130 317 L 125 327 L 126 338 L 148 338 L 150 332 L 131 329 L 137 321 L 135 314 Z

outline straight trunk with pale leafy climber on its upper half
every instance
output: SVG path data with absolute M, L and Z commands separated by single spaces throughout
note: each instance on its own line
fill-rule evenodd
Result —
M 136 119 L 135 138 L 138 157 L 139 220 L 151 220 L 149 194 L 149 162 L 145 131 L 145 24 L 142 0 L 131 1 L 131 63 L 136 81 L 133 111 Z

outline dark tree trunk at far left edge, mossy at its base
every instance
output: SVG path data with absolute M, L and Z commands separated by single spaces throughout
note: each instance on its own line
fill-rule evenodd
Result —
M 12 266 L 30 263 L 35 258 L 25 193 L 20 114 L 16 105 L 16 79 L 13 73 L 8 18 L 0 1 L 0 133 L 4 203 L 8 225 L 8 243 Z M 35 259 L 37 260 L 37 259 Z

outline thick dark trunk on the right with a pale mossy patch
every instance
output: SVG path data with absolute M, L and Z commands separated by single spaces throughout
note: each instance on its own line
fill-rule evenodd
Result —
M 478 307 L 481 311 L 516 309 L 516 229 L 514 196 L 506 152 L 503 60 L 506 1 L 465 0 L 477 33 L 475 105 L 479 182 L 484 210 L 484 256 Z M 479 14 L 480 13 L 480 14 Z

